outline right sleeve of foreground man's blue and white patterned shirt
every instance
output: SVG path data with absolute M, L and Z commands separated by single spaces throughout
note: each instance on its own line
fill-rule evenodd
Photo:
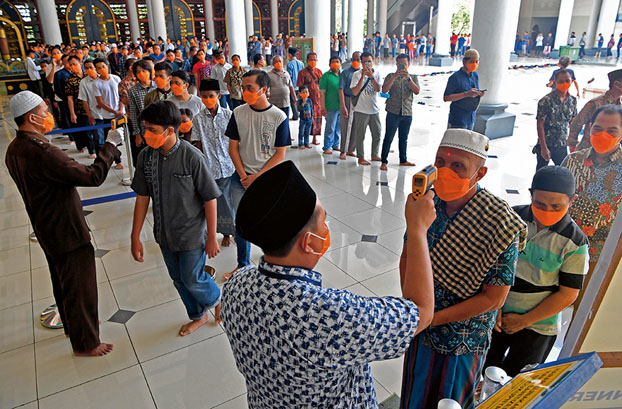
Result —
M 405 298 L 335 290 L 306 304 L 320 313 L 300 322 L 293 342 L 308 346 L 305 358 L 333 370 L 402 356 L 419 326 L 419 309 Z

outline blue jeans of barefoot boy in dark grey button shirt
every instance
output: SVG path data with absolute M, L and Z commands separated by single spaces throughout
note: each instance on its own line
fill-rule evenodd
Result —
M 205 248 L 170 251 L 160 246 L 168 274 L 186 307 L 188 318 L 200 320 L 209 308 L 220 302 L 220 289 L 205 272 Z

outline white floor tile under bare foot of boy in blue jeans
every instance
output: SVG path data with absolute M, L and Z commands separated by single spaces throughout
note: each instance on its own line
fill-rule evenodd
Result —
M 168 302 L 136 313 L 126 324 L 140 362 L 187 347 L 220 335 L 223 329 L 214 319 L 190 335 L 178 335 L 179 328 L 189 322 L 181 300 Z

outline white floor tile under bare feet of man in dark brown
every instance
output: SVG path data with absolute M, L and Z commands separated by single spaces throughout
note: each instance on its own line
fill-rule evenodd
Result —
M 103 322 L 102 342 L 114 344 L 114 351 L 101 357 L 76 357 L 69 338 L 55 337 L 36 344 L 39 398 L 81 385 L 136 365 L 138 361 L 125 327 Z

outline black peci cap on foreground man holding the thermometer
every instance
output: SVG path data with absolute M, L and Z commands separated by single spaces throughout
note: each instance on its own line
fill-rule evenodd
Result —
M 296 237 L 315 211 L 316 195 L 294 162 L 283 162 L 248 188 L 235 217 L 238 234 L 264 251 Z

